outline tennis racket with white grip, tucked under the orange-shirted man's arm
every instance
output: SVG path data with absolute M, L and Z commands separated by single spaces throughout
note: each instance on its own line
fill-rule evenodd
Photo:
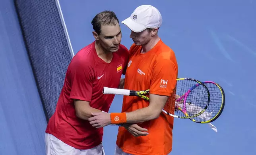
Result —
M 149 89 L 144 91 L 134 91 L 103 87 L 103 94 L 138 96 L 149 101 Z M 176 118 L 193 118 L 204 113 L 209 106 L 209 102 L 210 93 L 206 85 L 196 79 L 178 78 L 176 79 L 176 87 L 173 91 L 173 95 L 168 98 L 162 111 L 167 115 Z M 197 110 L 197 113 L 192 113 L 192 115 L 190 115 L 191 112 L 189 112 L 190 109 L 187 108 L 189 106 L 186 103 L 196 103 L 196 105 L 202 107 L 202 109 L 200 112 Z

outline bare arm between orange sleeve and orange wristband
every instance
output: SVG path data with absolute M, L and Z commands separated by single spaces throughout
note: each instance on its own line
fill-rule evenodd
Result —
M 159 117 L 163 107 L 165 106 L 168 96 L 150 94 L 149 98 L 149 106 L 126 113 L 127 123 L 139 123 Z

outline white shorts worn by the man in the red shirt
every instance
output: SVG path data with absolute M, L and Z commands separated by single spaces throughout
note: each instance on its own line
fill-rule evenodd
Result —
M 45 133 L 46 155 L 105 155 L 102 144 L 91 149 L 76 149 L 52 134 Z

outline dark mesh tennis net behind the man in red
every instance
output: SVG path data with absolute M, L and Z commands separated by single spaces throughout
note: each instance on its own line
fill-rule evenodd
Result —
M 15 5 L 48 121 L 72 54 L 55 0 L 15 0 Z

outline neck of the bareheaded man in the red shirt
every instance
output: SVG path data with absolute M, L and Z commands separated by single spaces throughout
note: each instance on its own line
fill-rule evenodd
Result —
M 101 44 L 99 42 L 97 42 L 97 40 L 95 41 L 95 49 L 96 49 L 96 53 L 98 55 L 99 58 L 101 58 L 103 61 L 110 63 L 112 60 L 112 52 L 107 51 L 106 49 L 104 49 Z

